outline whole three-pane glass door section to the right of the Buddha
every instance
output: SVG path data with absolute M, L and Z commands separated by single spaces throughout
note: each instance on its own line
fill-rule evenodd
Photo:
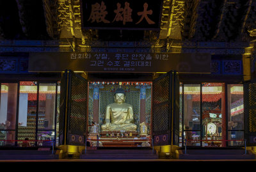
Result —
M 243 84 L 183 84 L 183 146 L 244 146 Z

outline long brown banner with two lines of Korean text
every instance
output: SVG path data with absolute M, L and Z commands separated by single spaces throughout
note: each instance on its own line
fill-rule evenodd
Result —
M 211 73 L 211 54 L 147 52 L 31 52 L 29 72 Z

